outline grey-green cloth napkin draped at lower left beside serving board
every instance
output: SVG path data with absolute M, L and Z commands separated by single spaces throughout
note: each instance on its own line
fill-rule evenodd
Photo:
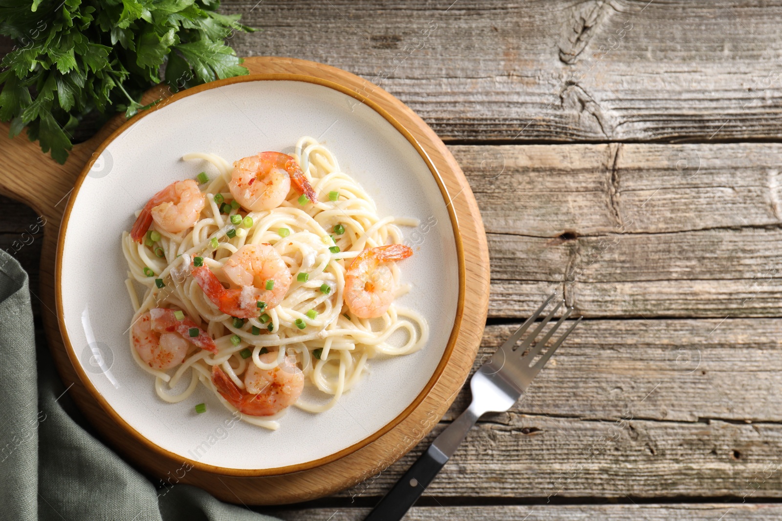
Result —
M 95 439 L 48 349 L 36 355 L 27 273 L 2 250 L 0 355 L 0 519 L 275 519 L 189 485 L 159 490 Z

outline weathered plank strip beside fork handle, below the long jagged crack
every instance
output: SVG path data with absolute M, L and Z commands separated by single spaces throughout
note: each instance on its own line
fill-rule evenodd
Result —
M 641 397 L 642 398 L 642 397 Z M 632 414 L 632 412 L 630 412 Z M 782 497 L 779 423 L 604 422 L 511 415 L 479 423 L 427 489 L 440 497 Z M 443 430 L 436 426 L 432 437 Z M 338 494 L 384 494 L 426 448 Z

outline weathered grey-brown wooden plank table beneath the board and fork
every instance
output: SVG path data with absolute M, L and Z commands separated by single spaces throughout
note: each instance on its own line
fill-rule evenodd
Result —
M 224 2 L 263 29 L 240 55 L 357 73 L 450 145 L 490 244 L 486 352 L 547 292 L 587 318 L 407 519 L 779 519 L 782 2 L 451 2 Z M 14 252 L 36 216 L 0 204 Z M 422 448 L 264 512 L 361 519 Z

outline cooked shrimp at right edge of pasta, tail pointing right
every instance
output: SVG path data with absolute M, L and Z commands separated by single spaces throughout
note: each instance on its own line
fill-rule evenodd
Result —
M 393 274 L 383 262 L 407 259 L 413 250 L 404 244 L 367 248 L 357 255 L 345 275 L 345 303 L 360 319 L 382 316 L 393 302 Z

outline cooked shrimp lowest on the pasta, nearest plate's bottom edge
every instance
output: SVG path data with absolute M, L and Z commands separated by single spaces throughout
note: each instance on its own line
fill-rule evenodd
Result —
M 272 363 L 277 352 L 260 355 L 260 361 Z M 212 383 L 228 403 L 242 414 L 249 416 L 271 416 L 296 403 L 304 388 L 304 373 L 296 366 L 295 358 L 285 361 L 274 369 L 258 369 L 249 363 L 244 374 L 244 390 L 220 368 L 212 366 Z

